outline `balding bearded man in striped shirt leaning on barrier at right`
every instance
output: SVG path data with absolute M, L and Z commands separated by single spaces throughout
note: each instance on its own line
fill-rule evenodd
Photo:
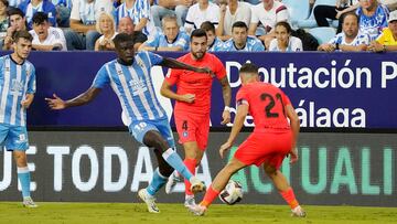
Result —
M 365 51 L 369 44 L 369 35 L 360 31 L 357 14 L 350 12 L 344 15 L 342 32 L 337 33 L 329 43 L 321 44 L 319 51 Z

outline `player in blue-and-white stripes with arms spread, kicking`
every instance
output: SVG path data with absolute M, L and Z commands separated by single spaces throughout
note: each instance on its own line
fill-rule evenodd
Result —
M 55 94 L 53 98 L 46 100 L 52 109 L 82 106 L 92 102 L 106 85 L 110 85 L 130 120 L 128 127 L 130 134 L 139 142 L 154 148 L 159 168 L 155 169 L 149 186 L 139 190 L 138 195 L 147 203 L 149 212 L 159 213 L 154 194 L 165 184 L 168 177 L 174 170 L 190 180 L 193 192 L 204 191 L 205 185 L 189 171 L 173 149 L 175 143 L 169 119 L 154 95 L 150 68 L 161 65 L 208 74 L 212 71 L 193 67 L 146 51 L 135 55 L 133 36 L 126 33 L 117 34 L 114 43 L 118 58 L 106 63 L 98 71 L 90 88 L 69 100 L 63 100 Z

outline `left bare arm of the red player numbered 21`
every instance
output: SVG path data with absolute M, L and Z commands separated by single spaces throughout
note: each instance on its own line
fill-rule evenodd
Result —
M 219 149 L 221 158 L 224 158 L 225 152 L 232 148 L 239 131 L 242 130 L 242 128 L 244 126 L 244 120 L 245 120 L 247 114 L 248 114 L 248 105 L 246 105 L 246 104 L 238 105 L 237 114 L 236 114 L 236 117 L 235 117 L 235 120 L 233 124 L 233 128 L 232 128 L 229 138 L 227 139 L 227 141 L 224 145 L 221 146 L 221 149 Z

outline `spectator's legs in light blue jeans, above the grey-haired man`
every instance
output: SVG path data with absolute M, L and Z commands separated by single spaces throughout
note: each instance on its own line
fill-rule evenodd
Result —
M 193 0 L 158 0 L 157 4 L 151 6 L 154 25 L 161 26 L 161 19 L 165 15 L 176 15 L 178 25 L 183 26 L 187 10 L 193 4 Z

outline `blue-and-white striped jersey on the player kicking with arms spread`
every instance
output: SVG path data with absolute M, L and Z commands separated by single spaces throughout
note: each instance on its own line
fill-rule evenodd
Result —
M 165 110 L 157 99 L 150 76 L 150 68 L 161 62 L 160 55 L 147 51 L 137 53 L 130 66 L 110 61 L 98 71 L 93 87 L 110 84 L 131 121 L 164 118 Z

